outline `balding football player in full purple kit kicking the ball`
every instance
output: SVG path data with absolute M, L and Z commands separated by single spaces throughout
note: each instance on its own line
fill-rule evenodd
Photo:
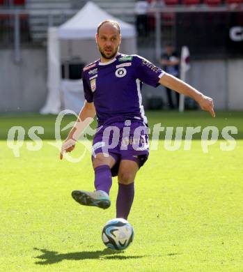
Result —
M 168 75 L 143 57 L 120 54 L 118 22 L 101 22 L 95 38 L 100 59 L 83 70 L 86 101 L 75 126 L 63 142 L 60 158 L 63 158 L 64 152 L 75 148 L 75 141 L 84 129 L 81 124 L 93 119 L 96 114 L 98 127 L 92 154 L 95 191 L 75 190 L 72 197 L 79 204 L 107 209 L 111 205 L 111 176 L 118 176 L 116 218 L 127 219 L 134 199 L 136 173 L 148 158 L 147 119 L 141 104 L 143 82 L 155 87 L 162 84 L 190 96 L 213 117 L 214 105 L 212 98 Z M 137 131 L 140 132 L 139 137 L 136 136 Z M 117 140 L 116 144 L 112 142 L 113 137 Z

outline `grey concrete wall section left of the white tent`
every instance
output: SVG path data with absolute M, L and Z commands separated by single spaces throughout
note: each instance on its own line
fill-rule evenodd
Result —
M 45 103 L 45 50 L 21 50 L 21 56 L 15 63 L 13 50 L 0 50 L 0 112 L 38 112 Z

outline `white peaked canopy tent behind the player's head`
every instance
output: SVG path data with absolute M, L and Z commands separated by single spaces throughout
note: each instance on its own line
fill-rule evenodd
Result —
M 109 15 L 93 2 L 86 3 L 84 8 L 61 27 L 48 29 L 48 96 L 45 106 L 40 110 L 42 114 L 56 114 L 61 107 L 79 112 L 84 103 L 81 80 L 61 80 L 61 63 L 75 58 L 88 64 L 99 59 L 95 33 L 97 25 L 107 19 L 120 24 L 120 52 L 136 54 L 134 26 Z

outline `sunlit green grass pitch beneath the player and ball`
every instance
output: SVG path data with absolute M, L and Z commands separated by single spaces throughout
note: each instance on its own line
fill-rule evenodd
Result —
M 0 271 L 243 271 L 243 113 L 147 115 L 151 127 L 236 126 L 236 147 L 221 151 L 220 139 L 203 153 L 196 135 L 190 151 L 167 151 L 162 134 L 136 177 L 134 242 L 124 252 L 101 239 L 115 217 L 116 179 L 110 209 L 80 206 L 70 192 L 93 190 L 90 154 L 80 163 L 58 159 L 49 144 L 56 116 L 0 116 Z M 43 126 L 42 149 L 27 150 L 26 139 L 16 158 L 6 143 L 11 126 Z M 77 144 L 73 156 L 82 150 Z

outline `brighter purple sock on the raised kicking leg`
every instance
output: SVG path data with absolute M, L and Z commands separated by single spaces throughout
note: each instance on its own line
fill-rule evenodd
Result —
M 102 190 L 107 192 L 111 188 L 111 169 L 108 165 L 100 165 L 95 168 L 95 190 Z

